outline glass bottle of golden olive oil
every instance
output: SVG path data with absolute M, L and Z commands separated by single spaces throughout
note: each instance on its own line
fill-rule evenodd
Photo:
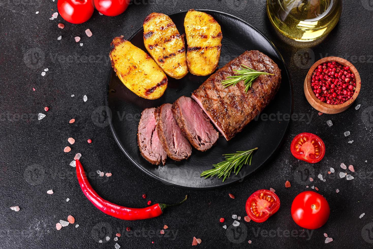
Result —
M 342 0 L 267 0 L 272 25 L 295 41 L 324 37 L 337 24 Z

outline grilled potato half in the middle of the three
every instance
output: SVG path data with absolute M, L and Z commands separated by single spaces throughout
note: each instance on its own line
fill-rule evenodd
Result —
M 149 54 L 172 78 L 180 79 L 188 73 L 184 35 L 175 23 L 162 13 L 151 13 L 144 20 L 144 44 Z

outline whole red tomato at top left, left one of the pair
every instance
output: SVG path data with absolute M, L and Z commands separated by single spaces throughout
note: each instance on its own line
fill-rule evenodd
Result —
M 63 19 L 78 24 L 91 18 L 94 6 L 92 0 L 58 0 L 57 9 Z

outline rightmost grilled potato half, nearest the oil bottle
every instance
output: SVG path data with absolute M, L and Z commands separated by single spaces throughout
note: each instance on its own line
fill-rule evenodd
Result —
M 189 10 L 184 19 L 186 42 L 186 62 L 189 72 L 194 75 L 209 75 L 219 62 L 222 49 L 222 29 L 210 15 Z

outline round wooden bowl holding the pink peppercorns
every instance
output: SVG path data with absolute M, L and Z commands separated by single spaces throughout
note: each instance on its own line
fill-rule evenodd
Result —
M 316 97 L 316 95 L 313 92 L 313 89 L 311 88 L 312 73 L 316 69 L 317 66 L 319 66 L 320 64 L 323 64 L 324 62 L 338 62 L 342 66 L 349 66 L 351 72 L 355 75 L 356 89 L 355 89 L 354 95 L 352 95 L 352 98 L 350 98 L 348 101 L 346 101 L 343 104 L 331 105 L 331 104 L 327 104 L 325 102 L 321 102 Z M 315 108 L 316 110 L 318 110 L 322 113 L 336 114 L 336 113 L 341 113 L 344 110 L 347 110 L 347 108 L 350 107 L 352 105 L 352 103 L 354 103 L 354 101 L 357 98 L 357 95 L 359 95 L 360 86 L 361 86 L 360 75 L 357 72 L 357 69 L 354 67 L 354 65 L 352 65 L 351 62 L 349 62 L 348 60 L 345 60 L 343 58 L 330 56 L 330 57 L 325 57 L 325 58 L 322 58 L 322 59 L 318 60 L 310 68 L 310 70 L 307 73 L 306 78 L 304 79 L 304 94 L 305 94 L 305 97 L 308 100 L 308 103 L 310 103 L 310 105 L 312 105 L 312 107 Z

